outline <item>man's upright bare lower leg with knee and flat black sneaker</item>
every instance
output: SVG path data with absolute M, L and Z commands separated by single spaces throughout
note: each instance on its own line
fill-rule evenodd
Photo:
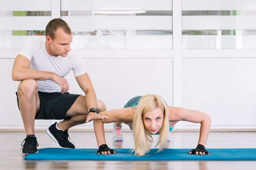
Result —
M 22 142 L 22 155 L 38 153 L 37 140 L 34 132 L 35 116 L 40 108 L 38 84 L 34 79 L 22 80 L 17 90 L 19 108 L 23 120 L 26 138 Z

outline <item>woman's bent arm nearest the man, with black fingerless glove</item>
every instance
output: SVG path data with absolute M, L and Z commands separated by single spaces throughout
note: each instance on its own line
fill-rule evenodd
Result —
M 94 133 L 99 146 L 98 154 L 110 155 L 111 153 L 116 153 L 115 150 L 111 150 L 106 145 L 105 133 L 104 133 L 104 123 L 113 123 L 117 121 L 131 122 L 133 119 L 133 112 L 131 108 L 121 108 L 115 110 L 107 110 L 99 113 L 101 116 L 108 116 L 108 119 L 94 120 Z

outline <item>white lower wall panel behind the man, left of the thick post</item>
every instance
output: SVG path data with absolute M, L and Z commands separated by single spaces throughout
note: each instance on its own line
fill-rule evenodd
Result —
M 23 128 L 15 95 L 19 82 L 11 79 L 14 59 L 1 58 L 0 61 L 0 128 Z M 108 109 L 122 108 L 130 98 L 147 93 L 161 95 L 172 106 L 171 58 L 84 58 L 84 62 L 97 97 L 105 102 Z M 70 84 L 70 93 L 83 94 L 72 72 L 65 78 Z M 51 122 L 36 120 L 36 128 L 49 126 Z M 88 126 L 92 128 L 91 123 Z

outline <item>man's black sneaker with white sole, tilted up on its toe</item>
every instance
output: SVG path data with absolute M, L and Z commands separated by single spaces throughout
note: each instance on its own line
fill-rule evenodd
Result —
M 60 148 L 75 148 L 75 146 L 67 139 L 69 135 L 67 130 L 58 130 L 56 128 L 57 122 L 46 129 L 47 134 L 58 144 Z

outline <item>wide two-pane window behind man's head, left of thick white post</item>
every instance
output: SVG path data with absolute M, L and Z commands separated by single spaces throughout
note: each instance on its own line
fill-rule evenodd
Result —
M 68 22 L 74 49 L 172 49 L 172 0 L 0 2 L 0 50 L 44 35 L 52 18 Z

